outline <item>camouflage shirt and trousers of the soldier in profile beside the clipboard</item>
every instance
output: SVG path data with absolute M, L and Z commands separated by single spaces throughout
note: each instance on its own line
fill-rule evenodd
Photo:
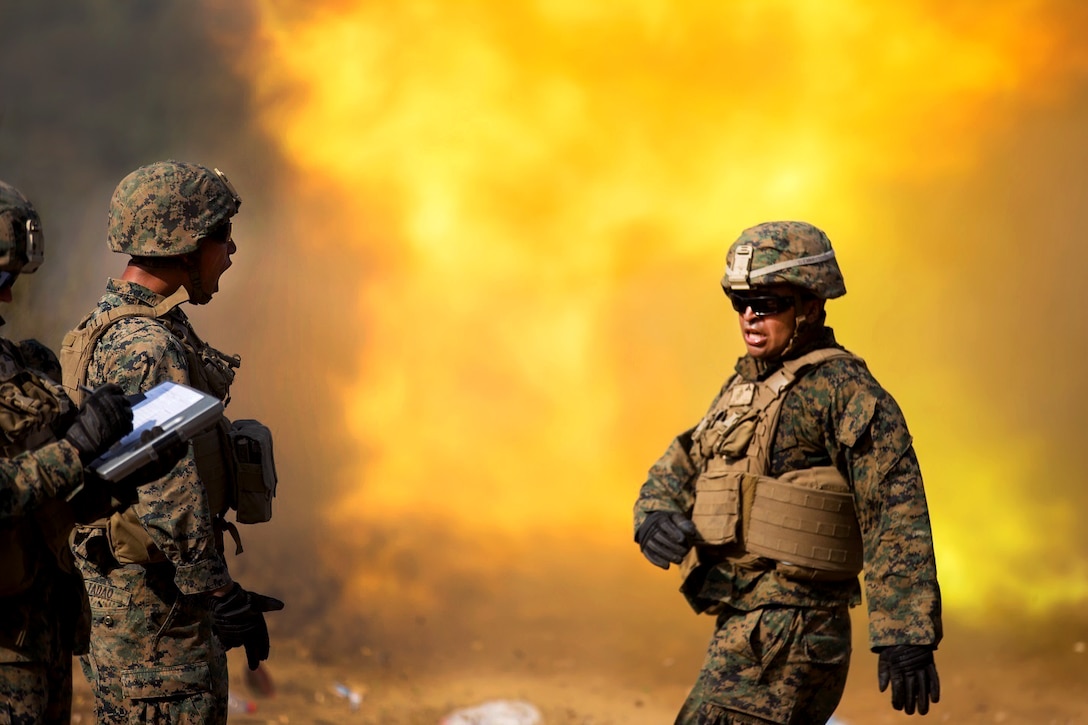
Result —
M 91 315 L 162 299 L 138 284 L 110 280 Z M 189 369 L 186 335 L 175 334 L 186 329 L 191 331 L 177 308 L 161 320 L 116 321 L 90 357 L 88 385 L 112 382 L 138 393 L 172 381 L 203 389 Z M 83 667 L 97 720 L 224 722 L 226 655 L 212 635 L 208 592 L 231 578 L 191 448 L 170 475 L 141 486 L 138 496 L 131 513 L 152 541 L 151 563 L 119 564 L 106 528 L 76 527 L 73 541 L 90 598 L 90 654 Z

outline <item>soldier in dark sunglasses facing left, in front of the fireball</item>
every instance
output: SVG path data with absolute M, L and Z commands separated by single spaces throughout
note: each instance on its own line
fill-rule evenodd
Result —
M 679 435 L 651 468 L 634 505 L 643 554 L 662 568 L 682 563 L 681 591 L 689 603 L 717 616 L 706 661 L 676 722 L 827 722 L 846 683 L 849 609 L 862 601 L 856 574 L 863 561 L 880 690 L 890 684 L 897 710 L 925 714 L 939 698 L 932 652 L 942 628 L 922 474 L 899 405 L 825 324 L 825 300 L 845 294 L 830 242 L 803 222 L 749 229 L 729 249 L 722 286 L 739 312 L 747 354 L 700 425 Z M 790 368 L 796 377 L 780 396 L 777 426 L 767 420 L 769 414 L 758 414 L 752 418 L 754 434 L 734 435 L 744 416 L 726 414 L 745 386 Z M 743 406 L 735 409 L 745 413 Z M 769 450 L 756 467 L 759 456 L 751 448 L 761 430 Z M 714 487 L 700 483 L 709 479 L 701 477 L 730 466 L 745 471 L 738 474 L 740 495 L 733 500 L 719 492 L 715 500 Z M 800 509 L 767 517 L 770 504 L 753 502 L 761 501 L 755 493 L 761 487 L 798 491 L 776 488 L 776 481 L 813 471 L 830 471 L 841 482 L 840 489 L 826 489 L 845 501 L 850 523 L 840 521 L 839 528 L 844 540 L 854 538 L 856 549 L 850 554 L 848 545 L 816 546 L 808 551 L 812 562 L 824 556 L 828 563 L 804 568 L 790 561 L 793 556 L 759 550 L 755 529 L 761 519 L 798 531 L 818 527 L 799 525 L 803 516 L 790 523 Z M 700 496 L 706 497 L 702 504 Z M 701 512 L 727 521 L 726 543 L 712 538 L 717 531 L 696 526 L 693 518 L 701 520 Z M 722 519 L 722 512 L 734 518 Z M 802 550 L 791 549 L 798 561 Z M 830 563 L 851 556 L 853 567 Z

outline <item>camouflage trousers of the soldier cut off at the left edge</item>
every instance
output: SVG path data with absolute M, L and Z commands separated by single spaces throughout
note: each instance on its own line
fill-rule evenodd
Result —
M 71 652 L 49 663 L 0 664 L 0 725 L 71 722 Z

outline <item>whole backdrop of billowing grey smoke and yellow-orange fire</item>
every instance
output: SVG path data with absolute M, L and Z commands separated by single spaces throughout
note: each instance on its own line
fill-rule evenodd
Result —
M 1086 11 L 591 4 L 5 9 L 0 177 L 50 245 L 5 333 L 57 345 L 120 271 L 124 173 L 220 167 L 239 253 L 193 317 L 282 480 L 239 578 L 330 647 L 601 632 L 685 616 L 630 507 L 740 354 L 726 247 L 806 219 L 911 422 L 948 615 L 1083 603 Z

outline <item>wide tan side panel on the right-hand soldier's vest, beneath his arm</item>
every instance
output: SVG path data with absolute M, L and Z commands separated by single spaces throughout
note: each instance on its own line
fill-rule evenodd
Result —
M 747 550 L 791 579 L 840 581 L 862 570 L 862 534 L 850 486 L 833 466 L 759 481 Z

